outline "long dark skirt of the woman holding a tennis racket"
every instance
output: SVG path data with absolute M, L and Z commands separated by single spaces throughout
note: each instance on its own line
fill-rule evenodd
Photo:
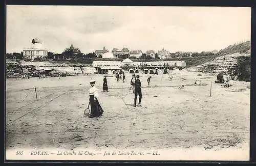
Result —
M 95 99 L 95 100 L 94 100 Z M 94 97 L 94 95 L 90 95 L 90 104 L 91 104 L 91 114 L 90 118 L 94 117 L 100 117 L 103 114 L 103 109 L 99 104 L 99 101 L 97 98 Z

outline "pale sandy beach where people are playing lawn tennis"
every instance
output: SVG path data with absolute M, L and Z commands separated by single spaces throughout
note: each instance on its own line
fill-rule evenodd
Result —
M 111 149 L 243 149 L 249 143 L 250 89 L 241 82 L 232 88 L 214 84 L 216 76 L 181 70 L 141 75 L 142 107 L 134 107 L 126 81 L 107 77 L 109 92 L 102 92 L 103 75 L 6 80 L 6 148 L 111 148 Z M 100 118 L 84 116 L 89 80 L 96 80 Z M 195 81 L 201 85 L 194 85 Z M 210 96 L 210 82 L 212 92 Z M 185 89 L 178 89 L 184 85 Z M 35 98 L 36 86 L 38 101 Z M 241 89 L 241 92 L 234 91 Z M 53 139 L 55 140 L 53 142 Z

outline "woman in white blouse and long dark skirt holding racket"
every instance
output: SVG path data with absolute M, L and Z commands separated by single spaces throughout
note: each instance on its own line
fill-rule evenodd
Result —
M 94 118 L 94 117 L 100 117 L 103 114 L 103 109 L 99 104 L 98 101 L 98 89 L 95 88 L 95 80 L 91 80 L 90 84 L 91 87 L 89 89 L 89 96 L 90 96 L 90 105 L 91 105 L 91 114 L 90 114 L 90 118 Z

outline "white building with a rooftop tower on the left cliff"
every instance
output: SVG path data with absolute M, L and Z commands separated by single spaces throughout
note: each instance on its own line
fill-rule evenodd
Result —
M 23 49 L 23 57 L 25 59 L 34 60 L 35 58 L 46 58 L 48 56 L 48 50 L 43 47 L 41 40 L 35 38 L 32 43 L 31 48 Z

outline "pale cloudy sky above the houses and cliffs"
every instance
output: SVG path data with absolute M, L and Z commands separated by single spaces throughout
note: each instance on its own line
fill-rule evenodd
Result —
M 212 51 L 250 40 L 248 7 L 7 6 L 6 52 L 39 38 L 51 52 L 79 48 Z

